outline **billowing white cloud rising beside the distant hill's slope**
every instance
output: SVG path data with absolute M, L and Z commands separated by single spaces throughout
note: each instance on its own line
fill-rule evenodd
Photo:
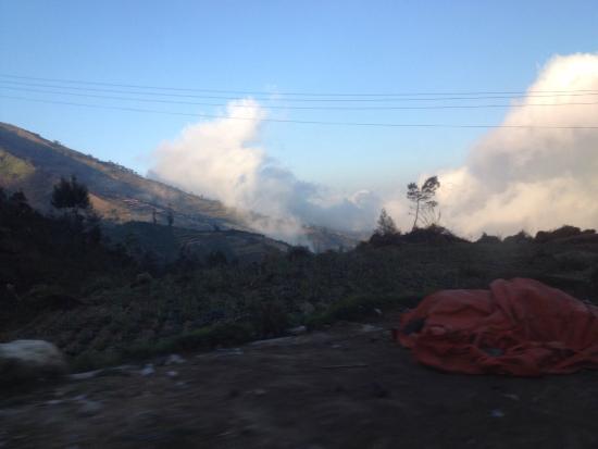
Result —
M 253 216 L 252 224 L 288 240 L 300 234 L 301 224 L 347 230 L 374 226 L 381 204 L 374 194 L 338 196 L 298 179 L 267 155 L 259 144 L 265 111 L 254 100 L 231 102 L 226 116 L 187 126 L 178 138 L 162 144 L 154 153 L 152 175 L 240 211 L 265 215 Z

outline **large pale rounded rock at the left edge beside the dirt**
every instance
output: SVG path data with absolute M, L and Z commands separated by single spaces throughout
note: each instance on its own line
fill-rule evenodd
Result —
M 0 344 L 0 383 L 55 377 L 68 371 L 62 352 L 43 340 Z

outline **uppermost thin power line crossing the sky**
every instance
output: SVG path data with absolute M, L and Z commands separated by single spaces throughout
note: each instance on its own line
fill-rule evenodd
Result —
M 422 101 L 422 100 L 469 100 L 469 99 L 490 99 L 490 98 L 528 98 L 528 97 L 553 97 L 553 96 L 583 96 L 583 95 L 598 95 L 598 90 L 595 89 L 572 89 L 572 90 L 533 90 L 533 91 L 452 91 L 452 92 L 400 92 L 400 93 L 315 93 L 315 92 L 267 92 L 259 90 L 222 90 L 222 89 L 196 89 L 196 88 L 179 88 L 179 87 L 159 87 L 147 85 L 134 85 L 134 84 L 116 84 L 116 83 L 99 83 L 99 82 L 84 82 L 74 79 L 59 79 L 59 78 L 42 78 L 34 76 L 17 76 L 0 74 L 0 77 L 9 77 L 15 79 L 32 79 L 50 83 L 61 84 L 83 84 L 95 86 L 112 86 L 112 87 L 127 87 L 135 89 L 151 89 L 151 90 L 171 90 L 171 91 L 197 91 L 197 92 L 212 92 L 212 93 L 235 93 L 235 95 L 259 95 L 259 96 L 300 96 L 300 97 L 381 97 L 381 98 L 358 98 L 358 99 L 286 99 L 287 101 Z M 11 82 L 3 80 L 3 83 L 29 85 L 37 87 L 53 87 L 53 88 L 66 88 L 76 90 L 96 90 L 107 92 L 120 92 L 125 93 L 123 90 L 112 89 L 96 89 L 86 87 L 73 87 L 73 86 L 59 86 L 59 85 L 41 85 L 25 82 Z M 140 93 L 136 91 L 136 93 Z M 157 95 L 157 96 L 176 96 L 176 97 L 196 97 L 196 98 L 212 98 L 233 100 L 237 97 L 214 97 L 214 96 L 192 96 L 192 95 L 176 95 L 176 93 L 163 93 L 163 92 L 144 92 L 144 95 Z M 433 97 L 433 98 L 403 98 L 403 97 Z M 447 96 L 461 96 L 458 98 L 446 98 Z M 478 96 L 478 97 L 472 97 Z M 481 97 L 479 97 L 481 96 Z M 488 97 L 493 96 L 493 97 Z M 495 97 L 501 96 L 501 97 Z M 399 97 L 399 98 L 395 98 Z M 434 98 L 435 97 L 435 98 Z M 270 98 L 269 98 L 270 99 Z

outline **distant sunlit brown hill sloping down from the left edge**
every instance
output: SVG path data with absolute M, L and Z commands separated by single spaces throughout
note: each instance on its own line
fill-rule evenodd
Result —
M 71 175 L 85 184 L 94 209 L 115 223 L 166 223 L 172 210 L 176 227 L 201 232 L 237 229 L 253 233 L 244 214 L 220 201 L 187 194 L 149 179 L 113 162 L 72 150 L 58 141 L 0 123 L 0 187 L 22 189 L 38 210 L 50 210 L 52 186 Z M 326 249 L 354 247 L 358 236 L 315 226 L 304 226 L 311 246 Z

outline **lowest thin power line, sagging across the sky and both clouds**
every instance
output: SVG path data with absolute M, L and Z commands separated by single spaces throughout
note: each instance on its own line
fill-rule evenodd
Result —
M 253 121 L 253 122 L 274 122 L 274 123 L 296 123 L 304 125 L 331 125 L 331 126 L 372 126 L 372 127 L 400 127 L 400 128 L 508 128 L 508 129 L 586 129 L 586 130 L 598 130 L 598 125 L 451 125 L 451 124 L 421 124 L 421 123 L 367 123 L 367 122 L 325 122 L 325 121 L 306 121 L 306 120 L 286 120 L 286 119 L 262 119 L 262 117 L 239 117 L 231 115 L 213 115 L 213 114 L 194 114 L 188 112 L 174 112 L 174 111 L 159 111 L 151 109 L 139 109 L 139 108 L 124 108 L 124 107 L 112 107 L 103 104 L 89 104 L 89 103 L 75 103 L 70 101 L 52 101 L 52 100 L 41 100 L 26 97 L 12 97 L 12 96 L 2 96 L 0 98 L 7 98 L 12 100 L 23 100 L 23 101 L 33 101 L 40 103 L 50 103 L 50 104 L 66 104 L 66 105 L 76 105 L 84 108 L 94 108 L 94 109 L 105 109 L 105 110 L 119 110 L 119 111 L 129 111 L 129 112 L 146 112 L 146 113 L 157 113 L 157 114 L 166 114 L 166 115 L 184 115 L 192 116 L 200 119 L 224 119 L 224 120 L 242 120 L 242 121 Z

